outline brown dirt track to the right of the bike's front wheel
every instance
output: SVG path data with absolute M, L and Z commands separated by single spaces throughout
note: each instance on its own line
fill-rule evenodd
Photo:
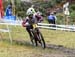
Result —
M 65 48 L 62 45 L 47 44 L 47 48 L 62 51 L 68 57 L 75 57 L 75 49 Z

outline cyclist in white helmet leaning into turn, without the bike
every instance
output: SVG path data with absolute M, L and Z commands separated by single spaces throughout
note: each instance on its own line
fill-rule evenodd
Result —
M 32 37 L 30 29 L 33 29 L 33 24 L 37 24 L 38 22 L 41 21 L 40 15 L 35 12 L 34 10 L 34 5 L 32 5 L 28 10 L 27 10 L 27 17 L 23 20 L 22 26 L 26 27 L 27 32 L 29 33 L 30 38 Z M 39 21 L 38 21 L 39 18 Z

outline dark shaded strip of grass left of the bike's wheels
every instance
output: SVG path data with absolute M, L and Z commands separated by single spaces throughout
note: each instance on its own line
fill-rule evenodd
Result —
M 1 41 L 9 43 L 10 45 L 33 47 L 33 45 L 30 42 L 24 40 L 12 40 L 12 43 L 10 42 L 10 39 L 2 39 Z

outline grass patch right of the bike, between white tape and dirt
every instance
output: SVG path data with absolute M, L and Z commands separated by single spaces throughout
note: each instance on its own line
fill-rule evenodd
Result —
M 45 30 L 45 40 L 49 44 L 63 45 L 67 48 L 75 48 L 74 32 Z

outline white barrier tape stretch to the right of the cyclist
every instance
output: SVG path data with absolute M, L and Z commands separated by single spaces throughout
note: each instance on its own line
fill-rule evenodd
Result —
M 75 31 L 75 25 L 58 25 L 58 24 L 38 23 L 38 27 L 45 28 L 45 29 Z

